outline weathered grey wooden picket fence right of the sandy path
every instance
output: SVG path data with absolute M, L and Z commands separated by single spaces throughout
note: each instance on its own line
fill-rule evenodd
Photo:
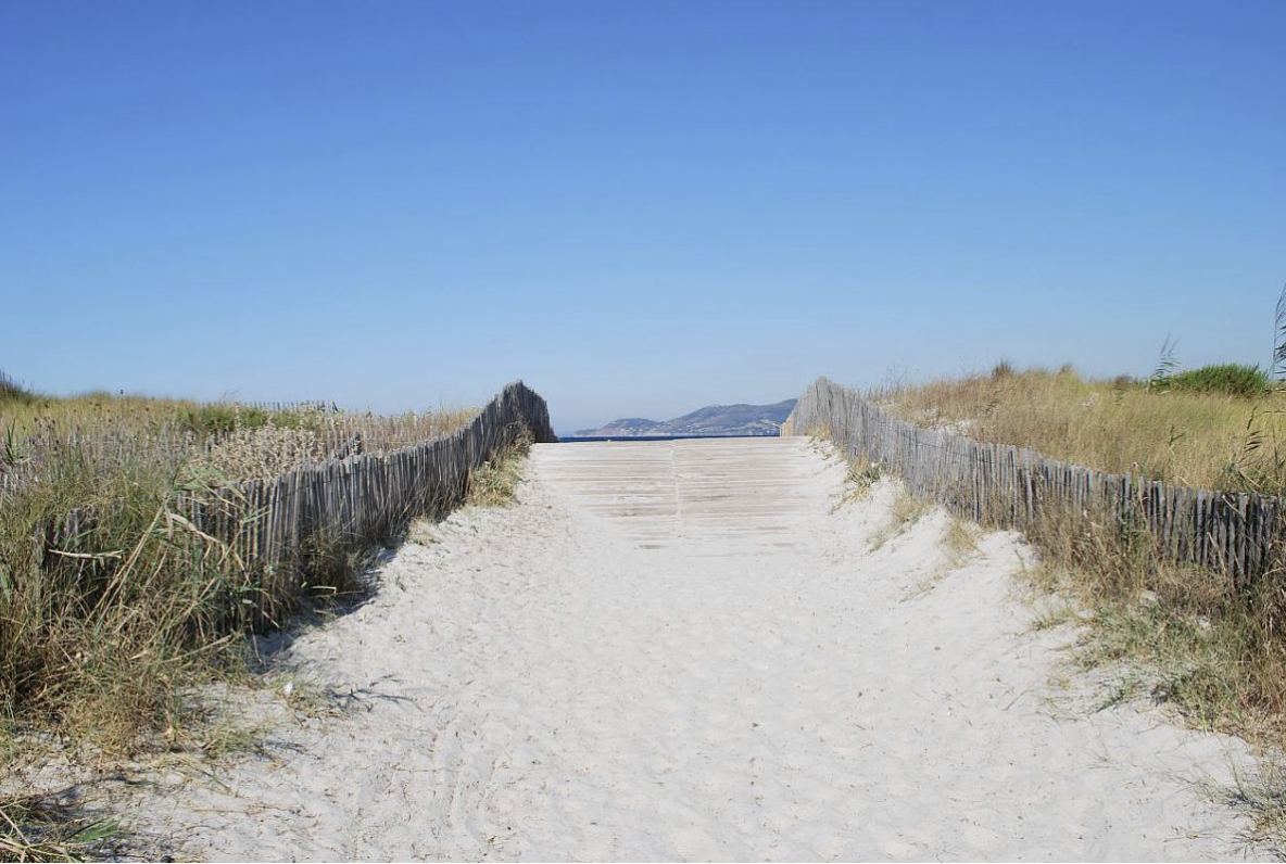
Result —
M 782 435 L 818 432 L 850 462 L 882 463 L 905 478 L 912 494 L 958 516 L 1024 530 L 1044 508 L 1083 518 L 1106 512 L 1123 527 L 1146 526 L 1170 559 L 1223 571 L 1242 585 L 1277 564 L 1286 539 L 1286 499 L 1112 474 L 919 428 L 826 378 L 804 392 L 782 426 Z

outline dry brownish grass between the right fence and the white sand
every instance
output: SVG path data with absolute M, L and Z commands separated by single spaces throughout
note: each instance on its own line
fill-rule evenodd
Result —
M 1138 670 L 1120 698 L 1146 696 L 1193 726 L 1286 746 L 1286 572 L 1251 585 L 1166 561 L 1146 527 L 1048 508 L 1026 531 L 1026 571 L 1085 615 L 1076 661 Z M 1283 834 L 1286 836 L 1286 834 Z

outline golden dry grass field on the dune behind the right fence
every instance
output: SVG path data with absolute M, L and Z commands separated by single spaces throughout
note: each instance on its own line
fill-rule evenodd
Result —
M 882 393 L 880 401 L 918 426 L 1102 471 L 1200 489 L 1286 490 L 1286 447 L 1278 446 L 1286 444 L 1286 395 L 1184 384 L 1195 372 L 1094 381 L 1070 366 L 1020 373 L 998 364 L 990 374 Z

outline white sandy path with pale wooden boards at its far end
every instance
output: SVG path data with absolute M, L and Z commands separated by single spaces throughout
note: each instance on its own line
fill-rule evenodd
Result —
M 953 563 L 935 513 L 871 552 L 892 487 L 832 512 L 802 440 L 544 445 L 529 477 L 294 643 L 365 710 L 157 825 L 213 860 L 1244 854 L 1193 784 L 1236 742 L 1058 719 L 1069 634 L 1025 633 L 1012 536 Z

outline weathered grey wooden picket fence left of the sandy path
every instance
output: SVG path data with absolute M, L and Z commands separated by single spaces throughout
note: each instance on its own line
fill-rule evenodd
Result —
M 516 382 L 453 433 L 186 495 L 175 501 L 175 516 L 226 544 L 243 567 L 270 567 L 293 561 L 318 532 L 347 543 L 382 540 L 417 514 L 459 503 L 469 472 L 523 433 L 538 442 L 557 441 L 545 400 Z M 75 512 L 59 519 L 44 537 L 46 549 L 75 548 L 93 518 Z

